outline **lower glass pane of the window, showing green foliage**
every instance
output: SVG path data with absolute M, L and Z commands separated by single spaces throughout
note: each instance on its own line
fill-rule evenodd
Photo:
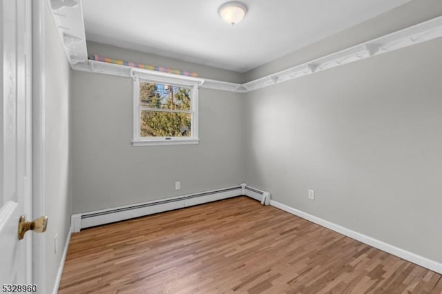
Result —
M 191 125 L 190 113 L 141 110 L 141 137 L 191 137 Z

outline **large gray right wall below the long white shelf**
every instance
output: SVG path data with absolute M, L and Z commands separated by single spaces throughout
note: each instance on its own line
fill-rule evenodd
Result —
M 442 262 L 441 51 L 436 39 L 247 93 L 247 184 Z

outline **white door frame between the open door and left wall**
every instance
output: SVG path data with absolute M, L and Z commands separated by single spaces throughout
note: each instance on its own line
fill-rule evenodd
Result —
M 46 215 L 44 210 L 44 40 L 46 0 L 32 2 L 32 213 Z M 33 234 L 32 281 L 39 293 L 49 293 L 45 277 L 44 235 Z M 51 289 L 52 291 L 52 289 Z

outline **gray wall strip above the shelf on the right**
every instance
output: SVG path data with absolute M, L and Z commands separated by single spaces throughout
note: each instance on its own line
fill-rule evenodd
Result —
M 417 23 L 442 15 L 441 0 L 413 0 L 387 11 L 378 17 L 369 19 L 352 28 L 318 41 L 288 55 L 265 63 L 258 68 L 244 73 L 244 81 L 253 81 L 271 75 L 291 66 L 296 66 L 319 57 L 323 57 L 345 48 L 356 46 L 365 41 L 402 30 Z

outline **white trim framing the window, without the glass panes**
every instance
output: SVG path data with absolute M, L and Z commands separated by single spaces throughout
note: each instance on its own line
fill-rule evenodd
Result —
M 173 75 L 167 72 L 153 70 L 131 71 L 133 77 L 133 146 L 157 146 L 157 145 L 186 145 L 199 144 L 198 135 L 198 89 L 204 83 L 204 79 Z M 172 84 L 192 88 L 191 112 L 192 112 L 192 137 L 141 137 L 140 136 L 140 79 L 157 84 Z

